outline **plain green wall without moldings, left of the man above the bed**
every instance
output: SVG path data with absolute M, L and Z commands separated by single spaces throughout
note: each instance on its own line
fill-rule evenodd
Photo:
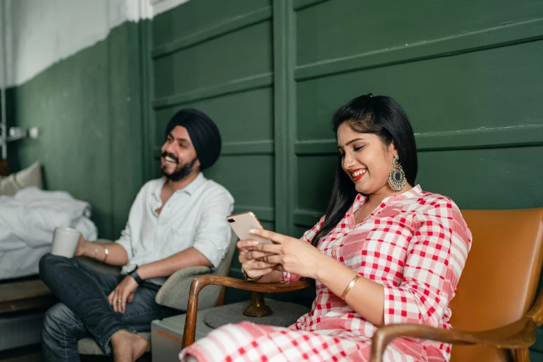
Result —
M 8 92 L 10 121 L 40 129 L 38 139 L 10 145 L 10 169 L 39 160 L 46 188 L 90 202 L 108 239 L 119 236 L 144 182 L 145 27 L 125 22 Z

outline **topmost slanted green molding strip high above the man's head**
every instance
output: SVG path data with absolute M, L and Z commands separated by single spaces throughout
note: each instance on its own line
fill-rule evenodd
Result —
M 162 58 L 165 55 L 187 49 L 190 46 L 195 46 L 202 42 L 207 42 L 215 37 L 220 37 L 234 31 L 239 31 L 248 26 L 260 24 L 263 21 L 269 20 L 272 17 L 272 7 L 266 6 L 259 10 L 248 12 L 247 14 L 239 15 L 222 23 L 216 24 L 201 31 L 196 31 L 192 34 L 184 36 L 173 42 L 169 42 L 153 49 L 153 59 Z

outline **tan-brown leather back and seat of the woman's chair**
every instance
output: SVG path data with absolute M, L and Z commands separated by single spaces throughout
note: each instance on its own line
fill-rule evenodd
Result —
M 535 301 L 543 263 L 543 208 L 462 210 L 472 248 L 451 301 L 451 325 L 482 331 L 522 318 Z M 509 361 L 508 351 L 455 345 L 451 361 Z

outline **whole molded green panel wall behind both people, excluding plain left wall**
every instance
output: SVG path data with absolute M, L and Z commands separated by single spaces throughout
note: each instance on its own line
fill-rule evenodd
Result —
M 413 123 L 423 189 L 465 209 L 543 207 L 542 18 L 532 0 L 189 1 L 151 24 L 153 148 L 175 110 L 208 112 L 225 145 L 207 177 L 300 236 L 329 198 L 334 110 L 388 94 Z

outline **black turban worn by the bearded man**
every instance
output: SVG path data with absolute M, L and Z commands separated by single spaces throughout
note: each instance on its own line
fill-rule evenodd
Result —
M 213 166 L 221 155 L 221 134 L 214 121 L 204 112 L 184 108 L 171 117 L 166 127 L 166 137 L 175 126 L 187 128 L 196 157 L 200 160 L 200 169 Z

